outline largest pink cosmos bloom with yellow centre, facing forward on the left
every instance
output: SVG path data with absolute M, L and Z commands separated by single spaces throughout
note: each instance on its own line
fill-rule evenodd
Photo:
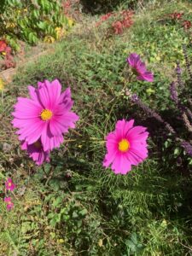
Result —
M 45 80 L 38 89 L 28 86 L 31 98 L 19 97 L 15 104 L 12 124 L 19 131 L 20 141 L 32 145 L 41 140 L 44 151 L 58 148 L 63 143 L 63 133 L 74 128 L 79 119 L 71 112 L 73 101 L 70 88 L 61 93 L 61 84 Z

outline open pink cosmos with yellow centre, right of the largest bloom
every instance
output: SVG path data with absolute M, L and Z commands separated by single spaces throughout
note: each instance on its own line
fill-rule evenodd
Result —
M 119 120 L 115 131 L 108 134 L 107 149 L 103 166 L 112 164 L 115 174 L 126 174 L 131 171 L 131 165 L 137 166 L 148 157 L 148 132 L 143 126 L 133 127 L 134 120 Z

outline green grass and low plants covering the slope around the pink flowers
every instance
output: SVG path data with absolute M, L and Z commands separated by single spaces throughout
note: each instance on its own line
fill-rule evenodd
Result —
M 168 9 L 188 12 L 186 6 L 140 9 L 134 26 L 122 36 L 108 37 L 106 26 L 96 29 L 96 18 L 85 17 L 52 53 L 22 67 L 7 85 L 0 104 L 0 146 L 11 148 L 0 151 L 2 198 L 5 177 L 13 177 L 17 189 L 11 212 L 0 201 L 0 255 L 191 254 L 192 182 L 177 165 L 174 147 L 168 155 L 160 154 L 155 135 L 149 139 L 148 160 L 128 175 L 115 176 L 102 167 L 104 138 L 118 119 L 134 118 L 136 124 L 148 125 L 148 131 L 160 132 L 122 89 L 137 92 L 160 111 L 171 104 L 172 67 L 177 60 L 183 67 L 181 44 L 190 38 L 177 25 L 158 19 Z M 148 61 L 153 84 L 125 80 L 125 58 L 132 51 Z M 71 85 L 80 120 L 51 154 L 50 164 L 38 168 L 21 151 L 10 113 L 16 97 L 27 95 L 26 85 L 55 78 L 63 89 Z

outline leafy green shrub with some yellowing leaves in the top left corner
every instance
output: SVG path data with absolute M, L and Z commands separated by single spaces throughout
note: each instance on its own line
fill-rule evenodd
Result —
M 17 39 L 36 44 L 39 38 L 54 41 L 58 28 L 67 24 L 60 1 L 57 0 L 4 0 L 1 3 L 0 37 L 17 49 Z M 13 12 L 14 9 L 14 12 Z

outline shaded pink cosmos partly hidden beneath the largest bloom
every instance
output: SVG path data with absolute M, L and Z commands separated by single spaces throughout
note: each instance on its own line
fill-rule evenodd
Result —
M 38 166 L 41 166 L 45 161 L 49 162 L 49 151 L 44 151 L 39 140 L 31 145 L 28 145 L 26 142 L 22 143 L 21 149 L 27 150 L 29 156 Z

